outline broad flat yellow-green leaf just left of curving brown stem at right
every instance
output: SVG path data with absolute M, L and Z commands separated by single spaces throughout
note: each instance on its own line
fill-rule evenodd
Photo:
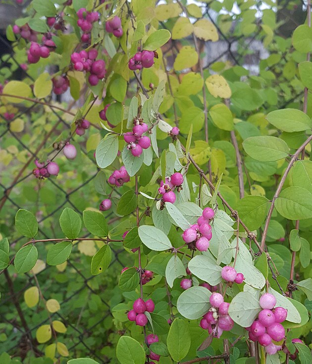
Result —
M 240 219 L 250 230 L 256 230 L 262 225 L 269 207 L 269 200 L 261 196 L 246 196 L 236 204 Z

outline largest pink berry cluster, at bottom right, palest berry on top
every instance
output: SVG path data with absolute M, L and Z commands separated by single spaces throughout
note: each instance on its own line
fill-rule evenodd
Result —
M 281 322 L 286 320 L 287 310 L 282 307 L 274 308 L 276 298 L 270 293 L 264 293 L 260 297 L 259 304 L 262 310 L 246 330 L 249 331 L 250 340 L 258 341 L 267 354 L 273 355 L 282 348 L 272 341 L 279 342 L 285 338 L 285 329 Z

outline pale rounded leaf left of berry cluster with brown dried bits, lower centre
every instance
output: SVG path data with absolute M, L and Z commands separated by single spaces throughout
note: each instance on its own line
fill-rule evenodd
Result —
M 179 296 L 177 309 L 183 317 L 196 320 L 208 312 L 210 296 L 211 292 L 206 287 L 191 287 Z

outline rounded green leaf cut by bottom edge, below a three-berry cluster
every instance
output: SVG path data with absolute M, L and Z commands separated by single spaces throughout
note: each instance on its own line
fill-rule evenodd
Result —
M 116 347 L 116 357 L 121 364 L 144 364 L 145 352 L 140 343 L 130 336 L 121 336 Z

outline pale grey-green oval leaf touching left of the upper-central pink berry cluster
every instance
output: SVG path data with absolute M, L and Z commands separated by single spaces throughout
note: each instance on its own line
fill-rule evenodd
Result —
M 108 167 L 118 153 L 118 136 L 106 134 L 96 149 L 96 160 L 100 168 Z

